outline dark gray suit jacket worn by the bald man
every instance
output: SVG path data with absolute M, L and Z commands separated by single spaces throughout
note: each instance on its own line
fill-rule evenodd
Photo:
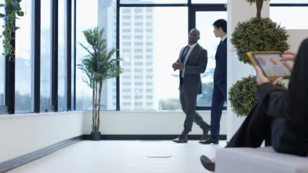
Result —
M 177 62 L 180 62 L 184 48 L 182 48 Z M 186 61 L 184 78 L 181 78 L 181 71 L 180 71 L 179 90 L 181 89 L 182 85 L 182 90 L 184 90 L 184 93 L 201 94 L 202 82 L 200 74 L 205 72 L 207 63 L 208 63 L 207 51 L 203 49 L 199 44 L 197 44 L 196 47 L 193 49 L 193 51 L 191 51 L 191 53 L 189 54 L 189 57 Z

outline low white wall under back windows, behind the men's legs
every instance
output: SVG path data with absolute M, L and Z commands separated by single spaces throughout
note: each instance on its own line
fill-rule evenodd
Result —
M 210 111 L 199 111 L 203 119 L 210 124 Z M 84 134 L 91 132 L 89 113 L 84 121 Z M 102 111 L 100 131 L 104 135 L 179 135 L 183 130 L 185 114 L 175 112 L 125 112 Z M 190 135 L 201 135 L 201 128 L 194 123 Z M 223 111 L 220 134 L 226 134 L 226 111 Z

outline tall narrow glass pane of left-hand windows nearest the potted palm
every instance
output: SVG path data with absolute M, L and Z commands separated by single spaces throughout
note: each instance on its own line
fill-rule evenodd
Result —
M 64 111 L 67 108 L 66 1 L 59 1 L 58 8 L 58 111 Z

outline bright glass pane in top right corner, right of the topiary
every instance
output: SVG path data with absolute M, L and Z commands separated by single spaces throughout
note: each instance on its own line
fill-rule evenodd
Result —
M 300 22 L 308 18 L 307 11 L 308 7 L 271 7 L 270 17 L 286 29 L 308 29 L 307 22 Z

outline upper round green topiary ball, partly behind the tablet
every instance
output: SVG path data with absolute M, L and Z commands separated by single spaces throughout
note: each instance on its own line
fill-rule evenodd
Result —
M 238 51 L 239 61 L 251 64 L 246 53 L 250 51 L 287 51 L 289 35 L 284 27 L 270 18 L 251 18 L 238 23 L 231 42 Z

